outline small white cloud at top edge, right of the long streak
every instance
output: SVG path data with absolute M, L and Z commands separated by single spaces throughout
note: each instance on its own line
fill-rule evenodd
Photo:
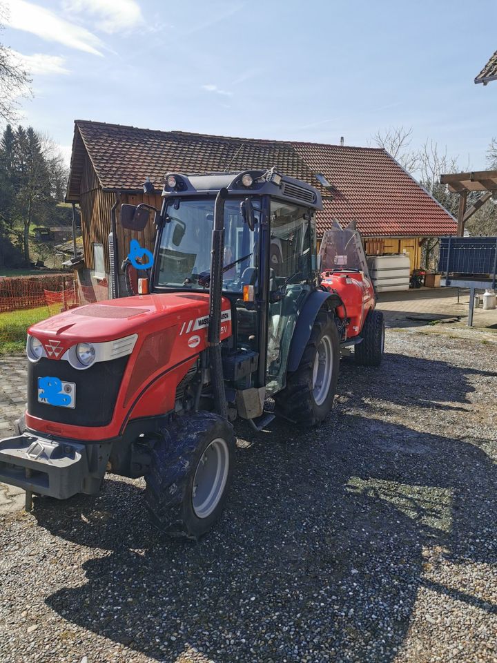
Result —
M 145 22 L 135 0 L 64 0 L 62 6 L 68 14 L 95 17 L 95 29 L 108 35 L 130 32 Z

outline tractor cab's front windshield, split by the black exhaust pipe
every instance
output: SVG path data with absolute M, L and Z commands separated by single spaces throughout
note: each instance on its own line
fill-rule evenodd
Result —
M 224 203 L 223 290 L 241 292 L 253 284 L 257 228 L 251 232 L 240 213 L 240 199 Z M 256 212 L 256 215 L 258 213 Z M 155 286 L 204 290 L 211 269 L 214 200 L 170 200 L 159 243 Z M 207 282 L 208 284 L 208 282 Z

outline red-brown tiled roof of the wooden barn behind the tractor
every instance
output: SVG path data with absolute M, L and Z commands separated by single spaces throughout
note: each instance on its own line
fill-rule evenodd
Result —
M 333 219 L 357 220 L 365 236 L 454 234 L 456 222 L 382 148 L 152 131 L 102 122 L 75 122 L 68 200 L 79 200 L 84 153 L 104 189 L 136 191 L 150 177 L 161 190 L 168 171 L 199 173 L 276 169 L 320 190 L 318 232 Z M 329 191 L 315 175 L 333 185 Z

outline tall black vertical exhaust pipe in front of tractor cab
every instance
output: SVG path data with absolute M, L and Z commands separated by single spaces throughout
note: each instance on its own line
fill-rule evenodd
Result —
M 211 364 L 211 383 L 217 414 L 228 419 L 228 403 L 224 391 L 224 376 L 221 360 L 221 304 L 224 265 L 224 201 L 228 189 L 220 189 L 214 204 L 214 224 L 211 251 L 211 282 L 209 284 L 209 325 L 207 341 Z

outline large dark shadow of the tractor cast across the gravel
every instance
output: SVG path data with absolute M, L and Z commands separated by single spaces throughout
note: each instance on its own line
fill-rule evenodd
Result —
M 355 379 L 347 371 L 345 390 Z M 447 401 L 467 403 L 465 372 Z M 422 586 L 497 613 L 427 579 L 422 555 L 436 547 L 455 563 L 497 562 L 496 465 L 475 445 L 376 417 L 367 394 L 385 378 L 377 371 L 358 385 L 362 414 L 340 396 L 318 430 L 275 422 L 253 434 L 238 425 L 231 500 L 199 543 L 150 528 L 139 482 L 108 479 L 97 499 L 62 509 L 41 501 L 39 526 L 96 551 L 81 564 L 86 582 L 46 604 L 168 662 L 195 648 L 232 663 L 235 647 L 240 661 L 388 663 Z M 390 396 L 411 399 L 382 392 Z

